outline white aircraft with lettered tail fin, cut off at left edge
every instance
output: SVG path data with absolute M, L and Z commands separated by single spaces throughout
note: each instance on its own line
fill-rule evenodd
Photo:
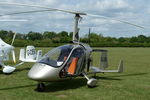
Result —
M 12 72 L 15 71 L 17 66 L 20 66 L 25 62 L 36 62 L 38 59 L 42 57 L 42 50 L 38 50 L 36 54 L 36 50 L 34 46 L 27 46 L 26 54 L 25 54 L 25 49 L 20 50 L 19 60 L 21 62 L 19 64 L 14 65 L 14 66 L 5 65 L 4 62 L 9 61 L 10 53 L 12 54 L 14 63 L 16 63 L 16 57 L 15 57 L 15 51 L 14 51 L 15 47 L 12 46 L 15 40 L 15 37 L 16 37 L 16 33 L 13 36 L 11 45 L 7 44 L 0 38 L 0 66 L 3 68 L 2 71 L 5 74 L 11 74 Z

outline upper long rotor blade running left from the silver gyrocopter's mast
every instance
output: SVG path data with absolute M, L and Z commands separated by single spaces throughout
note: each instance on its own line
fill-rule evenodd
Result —
M 8 3 L 8 2 L 0 2 L 0 4 L 3 4 L 3 5 L 25 6 L 25 7 L 34 7 L 34 8 L 43 8 L 43 9 L 48 9 L 48 10 L 53 10 L 53 11 L 67 12 L 67 13 L 71 13 L 71 14 L 86 15 L 86 13 L 82 13 L 82 12 L 69 11 L 69 10 L 64 10 L 64 9 L 50 8 L 50 7 L 44 7 L 44 6 L 40 6 L 40 5 L 28 5 L 28 4 Z

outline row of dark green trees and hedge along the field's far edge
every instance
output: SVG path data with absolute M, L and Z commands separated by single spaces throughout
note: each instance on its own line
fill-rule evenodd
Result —
M 5 42 L 11 43 L 13 31 L 0 30 L 0 38 Z M 27 34 L 17 33 L 14 46 L 23 47 L 34 45 L 38 47 L 55 47 L 70 43 L 73 32 L 32 32 Z M 104 37 L 98 33 L 87 33 L 80 37 L 80 41 L 88 43 L 93 47 L 150 47 L 150 36 L 139 35 L 133 37 Z

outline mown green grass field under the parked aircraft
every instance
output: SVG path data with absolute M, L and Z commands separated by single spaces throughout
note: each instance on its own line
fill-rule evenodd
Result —
M 20 48 L 16 48 L 19 52 Z M 47 52 L 50 48 L 38 48 Z M 0 100 L 150 100 L 150 48 L 104 48 L 109 50 L 109 69 L 124 60 L 124 73 L 98 75 L 95 88 L 86 86 L 86 79 L 46 84 L 45 92 L 35 91 L 37 82 L 27 73 L 33 63 L 19 66 L 12 75 L 0 71 Z M 18 54 L 17 54 L 18 55 Z M 99 55 L 94 53 L 94 65 Z

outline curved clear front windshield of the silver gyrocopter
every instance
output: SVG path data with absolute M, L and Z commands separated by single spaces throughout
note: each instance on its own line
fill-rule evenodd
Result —
M 52 49 L 42 57 L 39 63 L 44 63 L 52 67 L 59 67 L 66 61 L 72 48 L 73 48 L 72 45 L 64 45 Z

